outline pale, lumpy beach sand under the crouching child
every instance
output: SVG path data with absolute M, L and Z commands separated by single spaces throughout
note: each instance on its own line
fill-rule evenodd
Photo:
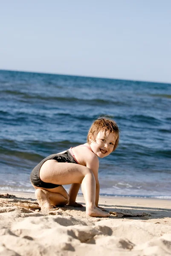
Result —
M 171 200 L 100 198 L 109 218 L 84 208 L 42 212 L 32 193 L 0 191 L 0 256 L 171 255 Z M 84 204 L 78 196 L 77 202 Z M 113 212 L 113 214 L 112 214 Z

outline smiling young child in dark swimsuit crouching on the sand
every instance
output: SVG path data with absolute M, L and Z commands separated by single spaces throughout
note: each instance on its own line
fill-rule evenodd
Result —
M 43 159 L 30 175 L 41 209 L 66 204 L 81 207 L 75 202 L 81 185 L 86 214 L 93 217 L 109 216 L 103 208 L 98 207 L 98 157 L 108 156 L 118 144 L 119 128 L 116 122 L 103 117 L 93 122 L 87 135 L 87 143 Z M 72 184 L 69 195 L 62 186 L 66 184 Z

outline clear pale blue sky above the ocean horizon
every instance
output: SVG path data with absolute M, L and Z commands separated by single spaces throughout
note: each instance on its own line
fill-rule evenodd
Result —
M 7 0 L 0 69 L 171 83 L 171 0 Z

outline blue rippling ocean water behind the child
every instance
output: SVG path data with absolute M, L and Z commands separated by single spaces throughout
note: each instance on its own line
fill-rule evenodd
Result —
M 121 139 L 100 159 L 100 194 L 171 199 L 171 84 L 3 70 L 0 190 L 34 192 L 32 169 L 85 143 L 103 115 Z

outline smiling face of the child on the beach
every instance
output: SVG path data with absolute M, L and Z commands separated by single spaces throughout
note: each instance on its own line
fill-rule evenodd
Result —
M 103 158 L 107 157 L 113 151 L 115 141 L 115 137 L 112 133 L 107 132 L 105 135 L 104 131 L 100 131 L 97 134 L 96 142 L 91 140 L 90 147 L 94 154 L 100 158 Z

